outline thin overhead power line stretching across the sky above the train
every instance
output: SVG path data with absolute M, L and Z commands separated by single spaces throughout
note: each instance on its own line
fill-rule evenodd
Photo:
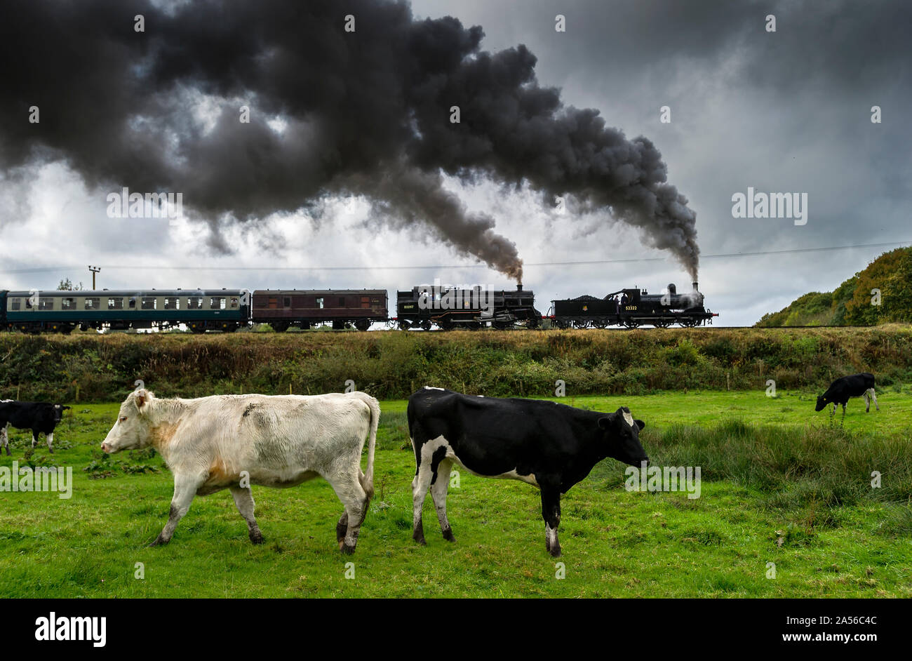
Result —
M 912 241 L 892 243 L 855 243 L 853 245 L 834 245 L 822 248 L 792 248 L 789 250 L 762 250 L 749 253 L 718 253 L 702 254 L 700 259 L 725 259 L 731 257 L 754 257 L 764 254 L 790 254 L 790 253 L 823 253 L 836 250 L 853 250 L 856 248 L 886 248 L 887 246 L 902 246 L 912 244 Z M 527 262 L 529 266 L 582 266 L 606 263 L 644 263 L 666 262 L 668 257 L 637 257 L 634 259 L 600 259 L 581 262 Z M 54 271 L 69 271 L 83 266 L 37 266 L 27 269 L 0 269 L 4 274 L 37 274 Z M 450 265 L 425 265 L 425 266 L 166 266 L 161 264 L 130 264 L 125 266 L 104 265 L 111 271 L 418 271 L 418 270 L 444 270 L 444 269 L 479 269 L 490 268 L 487 264 L 450 264 Z

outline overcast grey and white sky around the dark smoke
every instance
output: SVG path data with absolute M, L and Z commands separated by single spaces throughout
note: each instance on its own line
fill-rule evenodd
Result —
M 832 290 L 892 246 L 711 255 L 912 241 L 908 3 L 414 0 L 411 11 L 414 20 L 451 15 L 465 27 L 482 26 L 485 51 L 527 46 L 537 57 L 541 87 L 560 88 L 566 106 L 597 108 L 606 125 L 628 139 L 642 135 L 654 143 L 668 166 L 668 183 L 696 212 L 700 290 L 720 313 L 717 325 L 751 325 L 798 295 Z M 775 32 L 766 29 L 771 14 Z M 565 15 L 565 32 L 555 31 L 555 15 Z M 0 36 L 7 40 L 14 38 L 11 31 L 25 29 L 16 26 L 15 12 L 3 22 Z M 34 47 L 45 46 L 38 40 Z M 119 81 L 109 85 L 114 90 Z M 94 103 L 106 103 L 98 85 L 87 87 Z M 10 108 L 22 95 L 0 96 L 6 106 L 0 146 L 8 147 L 14 134 L 34 127 L 25 120 L 27 107 Z M 49 103 L 43 115 L 53 112 Z M 669 123 L 660 121 L 663 106 L 670 108 Z M 871 121 L 872 106 L 881 108 L 880 123 Z M 85 117 L 78 124 L 90 125 L 87 106 L 79 107 Z M 11 126 L 9 117 L 21 121 Z M 108 147 L 92 147 L 98 160 L 106 159 Z M 237 150 L 243 156 L 244 145 Z M 513 286 L 416 226 L 376 222 L 363 196 L 336 195 L 316 207 L 227 223 L 213 241 L 207 222 L 109 218 L 106 195 L 119 188 L 94 181 L 84 173 L 88 168 L 63 155 L 34 153 L 39 156 L 6 160 L 0 170 L 2 288 L 53 288 L 64 277 L 89 285 L 89 263 L 102 267 L 98 286 L 111 289 L 386 287 L 391 308 L 397 289 L 434 278 Z M 264 182 L 266 191 L 269 185 Z M 606 210 L 558 216 L 526 187 L 484 177 L 447 176 L 445 186 L 468 212 L 491 216 L 496 232 L 515 243 L 525 264 L 523 283 L 543 313 L 554 298 L 635 284 L 658 292 L 689 281 L 668 251 L 650 248 L 640 230 L 613 221 Z M 733 218 L 731 196 L 748 187 L 807 193 L 806 224 Z M 640 258 L 662 261 L 535 265 Z M 349 266 L 364 270 L 262 270 Z M 212 270 L 227 267 L 249 270 Z M 24 272 L 36 268 L 47 270 Z

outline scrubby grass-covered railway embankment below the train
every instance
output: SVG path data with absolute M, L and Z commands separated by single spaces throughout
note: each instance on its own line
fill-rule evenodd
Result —
M 162 396 L 315 394 L 351 379 L 378 398 L 424 385 L 489 396 L 824 387 L 872 371 L 912 381 L 912 327 L 454 333 L 0 334 L 0 397 L 110 401 L 141 378 Z

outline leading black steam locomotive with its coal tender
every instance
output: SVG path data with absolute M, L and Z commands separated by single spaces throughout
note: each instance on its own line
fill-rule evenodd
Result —
M 606 328 L 622 325 L 636 328 L 639 325 L 654 325 L 668 328 L 678 324 L 692 328 L 712 323 L 712 317 L 719 316 L 703 307 L 703 294 L 693 284 L 693 290 L 679 294 L 674 284 L 662 294 L 649 294 L 645 289 L 621 289 L 603 298 L 579 296 L 552 301 L 548 318 L 558 328 Z

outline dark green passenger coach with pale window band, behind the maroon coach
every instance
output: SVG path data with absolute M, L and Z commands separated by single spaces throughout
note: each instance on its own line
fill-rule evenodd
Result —
M 151 289 L 147 291 L 3 291 L 0 309 L 7 330 L 69 333 L 74 328 L 170 328 L 195 333 L 232 332 L 247 325 L 246 289 Z

